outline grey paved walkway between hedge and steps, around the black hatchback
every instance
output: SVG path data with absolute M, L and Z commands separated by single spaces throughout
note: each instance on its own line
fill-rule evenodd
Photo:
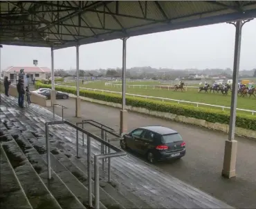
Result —
M 75 115 L 75 100 L 57 100 L 68 110 L 64 118 L 68 121 L 81 121 Z M 94 119 L 119 130 L 119 109 L 82 101 L 82 118 Z M 56 109 L 57 115 L 61 110 Z M 192 186 L 225 201 L 236 208 L 256 208 L 256 141 L 236 137 L 238 143 L 237 177 L 223 179 L 224 141 L 228 136 L 222 132 L 157 119 L 147 115 L 129 112 L 129 130 L 139 126 L 161 125 L 173 128 L 181 133 L 187 143 L 187 155 L 181 161 L 157 163 L 156 166 L 169 172 Z

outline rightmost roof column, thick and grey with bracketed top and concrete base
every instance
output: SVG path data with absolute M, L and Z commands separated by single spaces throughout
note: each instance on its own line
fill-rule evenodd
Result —
M 232 76 L 232 97 L 231 97 L 231 108 L 230 108 L 230 123 L 228 140 L 225 143 L 225 152 L 223 160 L 222 176 L 228 179 L 235 177 L 235 166 L 237 161 L 237 141 L 235 141 L 235 121 L 236 121 L 236 110 L 237 110 L 237 90 L 238 90 L 238 77 L 239 77 L 239 61 L 241 52 L 241 28 L 244 24 L 251 19 L 237 20 L 230 22 L 234 25 L 235 30 L 235 54 L 234 54 L 234 66 Z

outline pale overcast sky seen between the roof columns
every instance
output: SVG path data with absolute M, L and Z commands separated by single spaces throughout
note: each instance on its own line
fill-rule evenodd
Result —
M 170 32 L 160 32 L 127 40 L 127 68 L 231 68 L 235 48 L 235 26 L 227 23 Z M 1 68 L 8 66 L 51 68 L 50 48 L 3 46 Z M 55 69 L 75 68 L 75 48 L 55 50 Z M 105 41 L 80 46 L 80 69 L 122 66 L 122 41 Z M 240 70 L 256 68 L 256 19 L 242 30 Z

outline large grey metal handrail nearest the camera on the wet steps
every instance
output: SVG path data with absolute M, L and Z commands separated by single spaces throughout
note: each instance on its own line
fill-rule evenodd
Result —
M 111 143 L 108 143 L 107 141 L 104 141 L 103 139 L 100 139 L 100 137 L 93 135 L 91 132 L 88 132 L 79 126 L 75 126 L 73 123 L 68 121 L 52 121 L 52 122 L 46 122 L 45 123 L 45 132 L 46 132 L 46 152 L 47 152 L 47 168 L 48 168 L 48 179 L 51 179 L 51 158 L 50 158 L 50 141 L 49 141 L 49 127 L 50 125 L 60 125 L 60 124 L 66 124 L 68 126 L 71 126 L 72 128 L 76 129 L 76 146 L 77 146 L 77 158 L 79 158 L 79 143 L 78 143 L 78 131 L 82 132 L 83 135 L 87 135 L 87 166 L 88 166 L 88 195 L 89 195 L 89 206 L 92 206 L 92 188 L 91 188 L 91 138 L 95 139 L 96 141 L 104 144 L 104 146 L 107 146 L 109 148 L 109 153 L 107 154 L 101 154 L 101 155 L 95 155 L 94 156 L 94 190 L 95 190 L 95 209 L 100 208 L 100 175 L 99 175 L 99 160 L 102 159 L 110 159 L 111 157 L 121 157 L 127 155 L 126 152 L 121 150 L 120 148 L 117 148 L 116 146 L 111 145 Z M 110 153 L 110 149 L 116 151 L 113 153 Z M 109 160 L 110 161 L 110 160 Z M 110 173 L 110 168 L 109 168 Z

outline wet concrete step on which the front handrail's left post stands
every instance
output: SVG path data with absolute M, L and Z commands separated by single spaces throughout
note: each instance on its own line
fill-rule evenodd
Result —
M 48 180 L 47 165 L 42 156 L 39 155 L 37 150 L 31 146 L 28 139 L 23 137 L 23 134 L 19 135 L 19 138 L 15 139 L 19 144 L 21 150 L 26 155 L 28 161 L 35 168 L 39 177 L 44 181 L 48 190 L 51 192 L 53 197 L 57 200 L 63 209 L 69 208 L 86 208 L 82 203 L 75 197 L 73 192 L 65 185 L 58 175 L 52 170 L 52 179 Z M 42 152 L 42 150 L 39 150 Z

